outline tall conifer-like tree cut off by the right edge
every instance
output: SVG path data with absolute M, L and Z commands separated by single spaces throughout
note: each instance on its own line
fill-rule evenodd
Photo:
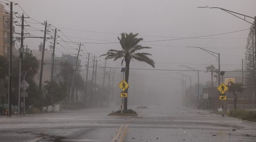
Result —
M 245 52 L 245 85 L 247 87 L 256 86 L 256 73 L 255 73 L 255 32 L 254 26 L 251 25 L 250 32 L 247 37 L 247 45 Z

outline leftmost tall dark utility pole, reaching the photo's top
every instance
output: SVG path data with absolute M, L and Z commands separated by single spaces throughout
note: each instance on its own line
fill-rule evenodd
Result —
M 9 116 L 11 116 L 11 56 L 13 54 L 13 2 L 10 3 L 10 53 L 9 53 Z

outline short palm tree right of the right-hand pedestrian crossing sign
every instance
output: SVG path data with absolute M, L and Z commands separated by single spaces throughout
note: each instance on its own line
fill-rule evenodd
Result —
M 237 109 L 237 91 L 242 93 L 242 91 L 244 90 L 243 83 L 234 83 L 230 81 L 228 84 L 229 92 L 233 92 L 234 95 L 234 108 Z

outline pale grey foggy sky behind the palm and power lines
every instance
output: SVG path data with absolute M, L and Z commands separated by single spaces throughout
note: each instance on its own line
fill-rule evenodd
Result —
M 152 47 L 142 52 L 151 53 L 155 61 L 155 68 L 144 62 L 136 60 L 130 64 L 128 105 L 181 105 L 182 75 L 191 76 L 192 85 L 197 83 L 197 72 L 185 68 L 189 66 L 200 70 L 200 83 L 211 80 L 210 73 L 205 73 L 205 66 L 213 64 L 218 67 L 216 57 L 193 47 L 202 47 L 212 52 L 220 53 L 221 70 L 232 71 L 241 69 L 241 60 L 245 57 L 247 35 L 251 24 L 220 9 L 199 9 L 199 6 L 222 7 L 241 14 L 255 16 L 256 1 L 35 1 L 22 0 L 18 2 L 26 13 L 26 27 L 31 36 L 43 36 L 42 24 L 48 24 L 61 30 L 57 32 L 62 39 L 56 45 L 56 56 L 61 54 L 77 54 L 79 45 L 65 41 L 81 42 L 81 64 L 86 64 L 86 53 L 96 55 L 99 66 L 97 70 L 97 83 L 102 85 L 104 76 L 104 57 L 100 55 L 109 49 L 121 49 L 117 37 L 121 32 L 139 33 L 143 37 L 140 44 Z M 22 9 L 15 5 L 13 10 L 22 14 Z M 18 15 L 17 15 L 18 16 Z M 32 19 L 31 19 L 32 18 Z M 243 18 L 243 17 L 242 17 Z M 33 20 L 34 19 L 34 20 Z M 20 19 L 15 18 L 18 22 Z M 35 22 L 38 21 L 38 22 Z M 253 19 L 246 19 L 253 22 Z M 31 22 L 31 23 L 29 23 Z M 20 32 L 20 27 L 15 27 Z M 64 34 L 64 35 L 63 35 Z M 19 36 L 15 34 L 14 36 Z M 50 35 L 48 35 L 50 36 Z M 48 48 L 51 43 L 46 43 Z M 24 40 L 24 44 L 31 49 L 38 49 L 43 39 Z M 52 41 L 51 41 L 52 42 Z M 17 44 L 20 44 L 17 42 Z M 17 45 L 16 45 L 17 46 Z M 70 49 L 72 48 L 76 49 Z M 17 47 L 16 47 L 17 48 Z M 65 48 L 65 49 L 64 49 Z M 90 61 L 92 62 L 92 61 Z M 183 66 L 181 66 L 183 65 Z M 118 83 L 122 80 L 121 60 L 107 61 L 107 69 L 115 69 L 114 100 L 119 98 Z M 85 69 L 85 67 L 82 67 Z M 188 71 L 186 71 L 188 70 Z M 113 70 L 112 70 L 113 72 Z M 81 72 L 85 77 L 86 72 Z M 89 70 L 91 80 L 92 70 Z M 216 80 L 216 78 L 214 78 Z M 189 78 L 184 77 L 187 88 L 190 86 Z M 111 81 L 112 82 L 112 81 Z M 105 85 L 108 84 L 106 78 Z M 112 84 L 112 83 L 111 83 Z M 195 94 L 195 93 L 194 93 Z

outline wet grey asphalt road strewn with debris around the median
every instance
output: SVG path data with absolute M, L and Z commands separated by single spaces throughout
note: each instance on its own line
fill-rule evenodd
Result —
M 0 141 L 256 141 L 256 123 L 184 107 L 148 106 L 138 117 L 118 106 L 0 117 Z

